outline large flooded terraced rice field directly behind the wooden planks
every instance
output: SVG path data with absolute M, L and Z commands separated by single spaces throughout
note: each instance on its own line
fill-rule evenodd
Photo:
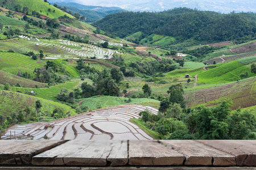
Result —
M 139 118 L 139 112 L 148 109 L 157 114 L 158 110 L 142 105 L 119 105 L 52 122 L 36 122 L 15 125 L 6 131 L 2 139 L 82 139 L 82 140 L 151 140 L 153 139 L 129 120 Z

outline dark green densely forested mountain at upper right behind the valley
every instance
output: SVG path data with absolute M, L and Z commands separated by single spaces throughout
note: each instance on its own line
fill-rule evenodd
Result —
M 254 37 L 255 13 L 220 14 L 189 8 L 174 8 L 163 12 L 121 12 L 110 14 L 94 23 L 104 31 L 119 37 L 142 32 L 140 39 L 151 35 L 165 35 L 179 40 L 226 41 Z

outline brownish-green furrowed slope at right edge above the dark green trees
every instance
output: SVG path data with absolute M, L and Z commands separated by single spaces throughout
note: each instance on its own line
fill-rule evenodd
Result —
M 252 107 L 256 103 L 256 81 L 248 78 L 219 86 L 188 88 L 185 89 L 185 99 L 190 107 L 213 106 L 226 99 L 233 101 L 232 109 Z

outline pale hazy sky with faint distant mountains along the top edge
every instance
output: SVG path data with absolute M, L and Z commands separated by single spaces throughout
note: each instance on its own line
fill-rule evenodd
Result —
M 52 0 L 55 1 L 55 0 Z M 61 0 L 60 0 L 61 1 Z M 57 2 L 60 2 L 57 1 Z M 62 1 L 67 2 L 67 1 Z M 77 2 L 83 5 L 93 6 L 118 6 L 129 11 L 163 11 L 175 7 L 197 8 L 203 11 L 216 11 L 221 13 L 236 12 L 256 12 L 256 1 L 254 0 L 69 0 L 68 2 Z

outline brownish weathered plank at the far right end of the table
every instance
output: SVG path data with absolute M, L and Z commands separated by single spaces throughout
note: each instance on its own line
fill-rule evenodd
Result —
M 256 141 L 198 141 L 236 156 L 237 165 L 256 165 Z

